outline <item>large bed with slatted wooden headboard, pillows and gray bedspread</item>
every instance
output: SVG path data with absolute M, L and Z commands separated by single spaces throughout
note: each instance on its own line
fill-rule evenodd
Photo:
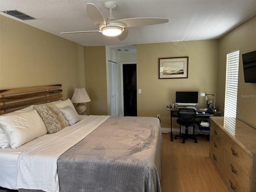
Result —
M 79 116 L 61 85 L 0 91 L 0 187 L 161 192 L 160 122 Z

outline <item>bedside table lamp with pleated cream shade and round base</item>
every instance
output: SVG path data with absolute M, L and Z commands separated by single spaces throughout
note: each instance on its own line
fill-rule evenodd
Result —
M 90 102 L 91 99 L 88 96 L 85 88 L 78 89 L 76 88 L 74 91 L 74 94 L 71 98 L 72 103 L 78 103 L 75 107 L 76 112 L 79 115 L 85 115 L 86 114 L 86 106 L 83 103 Z

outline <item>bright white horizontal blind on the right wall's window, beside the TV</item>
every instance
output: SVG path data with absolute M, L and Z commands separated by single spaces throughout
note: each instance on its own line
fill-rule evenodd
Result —
M 239 50 L 227 54 L 224 117 L 236 118 Z

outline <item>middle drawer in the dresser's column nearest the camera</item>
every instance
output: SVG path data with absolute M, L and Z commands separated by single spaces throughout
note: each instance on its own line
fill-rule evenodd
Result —
M 224 151 L 224 157 L 223 157 L 224 167 L 227 168 L 229 173 L 233 176 L 233 178 L 239 182 L 240 187 L 244 192 L 249 192 L 249 186 L 250 186 L 250 178 L 244 170 L 238 165 L 238 163 L 234 160 L 230 154 Z

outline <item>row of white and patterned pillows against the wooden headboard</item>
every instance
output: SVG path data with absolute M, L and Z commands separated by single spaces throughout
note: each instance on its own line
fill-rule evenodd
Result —
M 0 147 L 13 149 L 80 121 L 70 99 L 29 106 L 0 116 Z

